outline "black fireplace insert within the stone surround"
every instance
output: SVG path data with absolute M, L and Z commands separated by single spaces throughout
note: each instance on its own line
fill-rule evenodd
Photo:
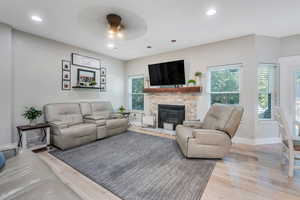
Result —
M 185 120 L 184 105 L 158 105 L 158 128 L 163 128 L 164 123 L 173 124 L 175 130 L 178 124 Z

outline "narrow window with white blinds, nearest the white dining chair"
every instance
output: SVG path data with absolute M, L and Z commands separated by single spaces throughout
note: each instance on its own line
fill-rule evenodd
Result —
M 272 107 L 278 105 L 278 67 L 276 64 L 259 64 L 258 108 L 259 119 L 272 119 Z

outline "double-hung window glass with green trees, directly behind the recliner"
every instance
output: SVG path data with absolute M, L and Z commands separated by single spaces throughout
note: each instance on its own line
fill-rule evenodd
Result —
M 241 65 L 226 65 L 209 69 L 210 104 L 240 103 Z

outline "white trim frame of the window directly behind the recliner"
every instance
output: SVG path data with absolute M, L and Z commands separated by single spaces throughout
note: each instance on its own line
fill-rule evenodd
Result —
M 207 87 L 206 87 L 206 92 L 208 94 L 208 103 L 209 106 L 211 105 L 211 94 L 240 94 L 239 96 L 239 105 L 242 105 L 242 77 L 243 77 L 243 63 L 234 63 L 234 64 L 226 64 L 226 65 L 219 65 L 219 66 L 209 66 L 207 67 L 208 71 L 208 77 L 207 77 Z M 239 76 L 239 89 L 238 91 L 232 91 L 232 92 L 211 92 L 210 91 L 210 86 L 211 86 L 211 72 L 213 71 L 220 71 L 220 70 L 228 70 L 228 69 L 238 69 L 240 70 L 240 76 Z

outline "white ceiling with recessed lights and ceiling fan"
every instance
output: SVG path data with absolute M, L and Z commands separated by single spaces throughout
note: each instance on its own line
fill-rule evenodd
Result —
M 209 8 L 217 14 L 206 16 Z M 0 0 L 0 22 L 129 60 L 247 34 L 298 34 L 299 9 L 300 0 Z M 109 12 L 127 25 L 127 38 L 113 50 L 105 34 Z M 44 21 L 37 24 L 31 15 Z

